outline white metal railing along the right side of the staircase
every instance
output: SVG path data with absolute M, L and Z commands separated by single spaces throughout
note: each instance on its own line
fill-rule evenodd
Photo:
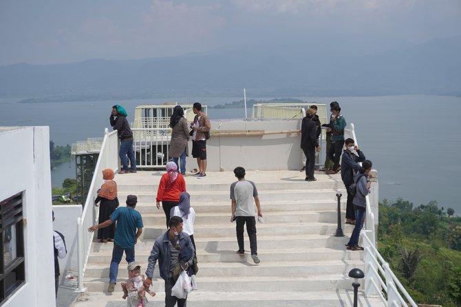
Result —
M 350 128 L 345 129 L 344 137 L 354 139 L 355 144 L 358 146 L 354 124 L 350 124 Z M 372 182 L 372 184 L 375 183 Z M 374 199 L 377 201 L 378 198 Z M 372 205 L 368 195 L 365 196 L 365 201 L 367 206 L 365 229 L 362 229 L 360 233 L 365 249 L 365 255 L 363 257 L 363 262 L 365 262 L 365 295 L 379 295 L 388 307 L 407 307 L 407 302 L 409 302 L 411 306 L 417 307 L 418 305 L 411 299 L 411 296 L 390 269 L 389 264 L 385 262 L 383 256 L 380 255 L 378 249 L 376 249 L 376 229 L 374 227 L 375 214 L 372 211 Z M 381 276 L 384 277 L 384 280 Z M 387 299 L 384 297 L 383 291 L 387 294 Z M 400 293 L 403 293 L 407 302 L 405 302 L 405 299 L 403 299 Z

